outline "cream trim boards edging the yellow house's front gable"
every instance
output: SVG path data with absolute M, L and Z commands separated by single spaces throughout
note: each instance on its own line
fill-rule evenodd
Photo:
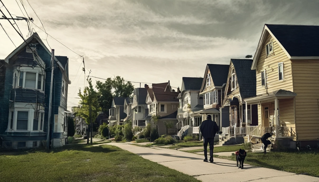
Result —
M 267 25 L 265 24 L 263 27 L 263 33 L 260 37 L 258 46 L 257 46 L 257 50 L 256 53 L 254 55 L 254 59 L 253 59 L 253 64 L 251 65 L 251 69 L 256 69 L 257 68 L 257 62 L 258 62 L 258 58 L 260 53 L 263 50 L 263 43 L 265 43 L 265 39 L 266 39 L 266 33 L 269 33 L 271 35 L 272 38 L 274 38 L 276 40 L 276 42 L 278 43 L 278 45 L 280 46 L 280 48 L 286 53 L 286 55 L 288 56 L 289 59 L 291 59 L 291 56 L 288 54 L 288 52 L 286 51 L 285 47 L 281 45 L 281 43 L 278 41 L 278 39 L 274 36 L 273 33 L 271 33 L 271 31 L 269 30 L 269 28 L 267 27 Z M 309 57 L 306 57 L 306 59 L 309 59 Z M 318 58 L 319 59 L 319 58 Z

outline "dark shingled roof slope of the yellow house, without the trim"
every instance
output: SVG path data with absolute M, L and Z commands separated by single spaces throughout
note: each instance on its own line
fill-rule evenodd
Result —
M 290 56 L 319 56 L 318 25 L 266 25 Z

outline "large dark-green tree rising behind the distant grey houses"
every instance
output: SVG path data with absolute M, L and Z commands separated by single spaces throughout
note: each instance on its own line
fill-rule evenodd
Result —
M 96 89 L 99 91 L 99 103 L 103 113 L 108 113 L 111 108 L 113 97 L 129 97 L 133 91 L 132 83 L 124 82 L 121 76 L 115 79 L 108 78 L 104 83 L 96 81 Z

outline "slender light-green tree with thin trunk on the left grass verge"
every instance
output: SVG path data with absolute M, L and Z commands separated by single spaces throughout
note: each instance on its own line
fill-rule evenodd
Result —
M 92 80 L 91 78 L 88 80 L 89 87 L 85 87 L 83 94 L 81 93 L 81 89 L 79 89 L 78 96 L 81 98 L 80 105 L 81 107 L 78 110 L 78 113 L 76 116 L 80 116 L 84 118 L 86 124 L 91 125 L 91 145 L 92 142 L 92 130 L 93 130 L 93 122 L 98 116 L 98 112 L 101 111 L 101 108 L 99 107 L 99 94 L 93 89 Z M 87 132 L 87 142 L 86 144 L 89 144 L 89 133 Z

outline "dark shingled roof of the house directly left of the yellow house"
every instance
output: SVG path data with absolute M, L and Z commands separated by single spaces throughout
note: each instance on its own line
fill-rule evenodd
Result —
M 256 70 L 251 70 L 252 59 L 230 59 L 234 65 L 241 98 L 256 96 Z

